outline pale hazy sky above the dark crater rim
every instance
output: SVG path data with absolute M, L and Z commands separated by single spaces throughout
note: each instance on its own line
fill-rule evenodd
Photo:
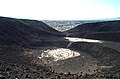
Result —
M 120 17 L 120 0 L 0 0 L 0 16 L 37 20 Z

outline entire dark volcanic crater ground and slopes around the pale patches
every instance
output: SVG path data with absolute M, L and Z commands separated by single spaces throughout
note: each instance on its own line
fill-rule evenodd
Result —
M 0 78 L 96 79 L 87 72 L 95 71 L 102 76 L 120 74 L 120 21 L 87 23 L 65 33 L 41 21 L 0 17 Z M 106 42 L 70 42 L 65 36 Z M 80 56 L 44 64 L 42 61 L 47 59 L 47 52 L 58 48 L 76 51 Z M 68 74 L 61 71 L 68 71 Z

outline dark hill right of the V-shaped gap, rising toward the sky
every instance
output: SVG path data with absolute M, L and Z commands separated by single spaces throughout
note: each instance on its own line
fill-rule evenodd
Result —
M 73 29 L 68 30 L 68 33 L 74 32 L 109 32 L 109 31 L 120 31 L 120 21 L 105 21 L 95 23 L 85 23 L 78 25 Z

